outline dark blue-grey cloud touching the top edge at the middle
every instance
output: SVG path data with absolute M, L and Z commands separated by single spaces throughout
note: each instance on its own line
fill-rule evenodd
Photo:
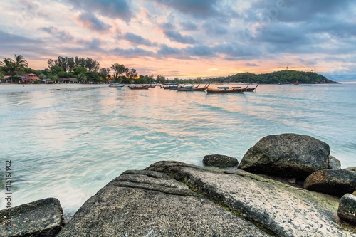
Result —
M 209 18 L 218 14 L 216 11 L 217 0 L 155 0 L 159 4 L 177 9 L 196 18 Z

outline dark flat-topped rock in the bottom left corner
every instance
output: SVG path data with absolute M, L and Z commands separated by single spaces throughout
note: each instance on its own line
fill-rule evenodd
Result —
M 33 201 L 11 208 L 11 219 L 9 210 L 1 210 L 0 226 L 0 236 L 56 236 L 63 227 L 63 209 L 58 199 Z

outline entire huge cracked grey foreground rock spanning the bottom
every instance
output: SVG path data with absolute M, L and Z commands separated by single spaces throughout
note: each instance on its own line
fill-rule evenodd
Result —
M 338 201 L 244 170 L 157 162 L 112 180 L 58 236 L 355 236 Z

